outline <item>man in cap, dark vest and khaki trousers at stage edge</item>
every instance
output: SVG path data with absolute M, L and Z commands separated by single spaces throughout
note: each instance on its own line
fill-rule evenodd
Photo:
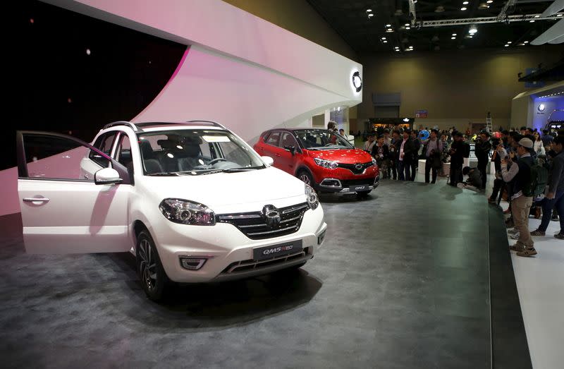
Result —
M 501 162 L 501 176 L 503 181 L 513 181 L 513 188 L 511 193 L 511 214 L 513 215 L 513 222 L 515 222 L 515 229 L 519 231 L 519 239 L 515 245 L 510 249 L 517 251 L 517 256 L 533 256 L 537 255 L 537 250 L 534 249 L 534 242 L 529 232 L 529 210 L 533 203 L 532 196 L 525 196 L 523 188 L 531 180 L 530 167 L 534 164 L 531 157 L 531 150 L 533 142 L 529 138 L 522 138 L 517 143 L 517 165 L 513 164 L 509 169 L 508 162 L 503 160 Z M 508 157 L 508 160 L 511 160 Z

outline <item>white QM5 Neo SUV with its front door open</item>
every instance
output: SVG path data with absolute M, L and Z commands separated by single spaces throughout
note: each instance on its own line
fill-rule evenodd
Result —
M 28 253 L 130 250 L 147 296 L 301 267 L 324 241 L 314 190 L 219 123 L 111 123 L 92 145 L 21 131 Z

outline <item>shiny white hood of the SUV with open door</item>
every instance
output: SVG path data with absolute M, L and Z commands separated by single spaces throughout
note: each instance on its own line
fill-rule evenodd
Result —
M 216 213 L 246 212 L 250 211 L 249 207 L 255 209 L 267 204 L 281 207 L 306 201 L 304 183 L 274 167 L 198 176 L 144 176 L 143 179 L 147 190 L 159 202 L 181 198 L 200 202 Z

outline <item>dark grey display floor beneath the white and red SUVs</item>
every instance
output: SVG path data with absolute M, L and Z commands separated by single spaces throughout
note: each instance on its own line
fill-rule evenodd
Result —
M 131 255 L 26 255 L 18 215 L 2 217 L 3 366 L 490 368 L 492 330 L 526 363 L 526 340 L 490 316 L 496 215 L 483 194 L 441 182 L 323 196 L 326 242 L 300 272 L 182 286 L 161 305 Z M 515 289 L 510 272 L 496 291 Z

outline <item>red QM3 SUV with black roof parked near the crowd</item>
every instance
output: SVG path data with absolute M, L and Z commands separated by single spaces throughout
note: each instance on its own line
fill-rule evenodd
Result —
M 316 128 L 277 128 L 262 133 L 259 155 L 319 192 L 357 193 L 364 197 L 378 186 L 379 169 L 368 152 L 343 136 Z

